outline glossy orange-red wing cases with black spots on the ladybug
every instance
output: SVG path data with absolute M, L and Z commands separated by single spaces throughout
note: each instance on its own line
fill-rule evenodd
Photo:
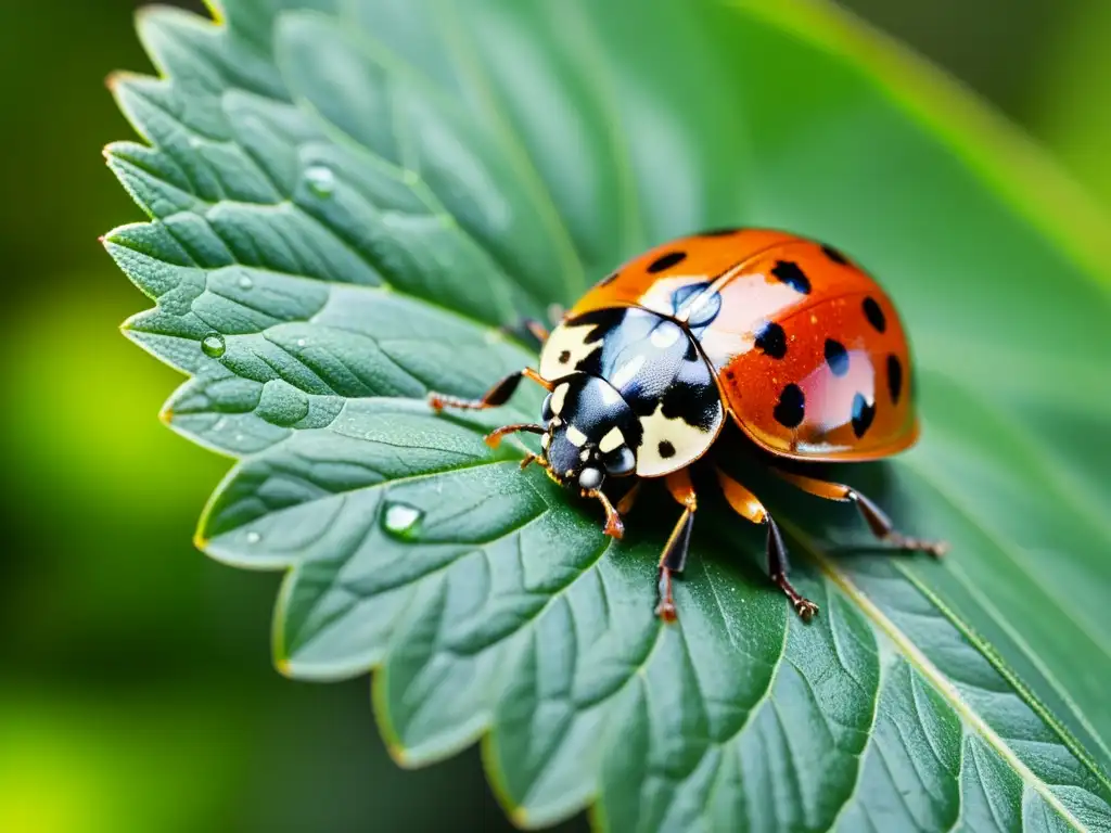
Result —
M 684 287 L 704 288 L 695 303 L 720 295 L 713 321 L 694 337 L 729 413 L 758 445 L 851 462 L 914 443 L 899 314 L 867 272 L 828 245 L 759 229 L 682 238 L 602 279 L 567 318 L 612 307 L 675 317 Z

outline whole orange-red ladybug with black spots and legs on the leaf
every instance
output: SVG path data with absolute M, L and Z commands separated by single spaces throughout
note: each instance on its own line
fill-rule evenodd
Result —
M 526 368 L 479 400 L 431 394 L 430 405 L 503 404 L 522 379 L 548 390 L 541 423 L 487 436 L 540 434 L 549 476 L 601 502 L 607 534 L 620 538 L 640 481 L 614 506 L 609 479 L 662 478 L 682 514 L 660 558 L 657 613 L 675 619 L 672 576 L 687 558 L 698 501 L 689 466 L 731 418 L 773 463 L 874 460 L 918 439 L 910 354 L 891 300 L 837 249 L 782 231 L 728 229 L 674 240 L 599 281 Z M 798 466 L 792 466 L 798 469 Z M 944 544 L 897 532 L 864 495 L 772 465 L 804 492 L 850 501 L 882 541 L 942 554 Z M 768 528 L 768 572 L 804 620 L 818 605 L 788 580 L 779 526 L 759 499 L 717 469 L 727 502 Z

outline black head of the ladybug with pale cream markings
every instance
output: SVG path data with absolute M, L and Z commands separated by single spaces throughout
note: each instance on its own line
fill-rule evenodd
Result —
M 640 421 L 605 380 L 585 373 L 561 379 L 544 400 L 542 418 L 542 460 L 558 483 L 597 492 L 607 475 L 635 470 Z

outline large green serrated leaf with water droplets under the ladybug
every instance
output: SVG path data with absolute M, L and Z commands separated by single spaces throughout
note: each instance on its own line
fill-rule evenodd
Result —
M 1111 237 L 1037 151 L 802 0 L 226 14 L 141 18 L 164 78 L 113 88 L 149 147 L 108 159 L 151 222 L 106 242 L 156 302 L 127 334 L 191 377 L 164 419 L 239 458 L 199 544 L 288 571 L 283 672 L 378 669 L 398 760 L 482 739 L 529 826 L 1111 831 Z M 808 625 L 707 495 L 664 626 L 667 499 L 613 544 L 482 443 L 536 392 L 422 398 L 530 362 L 500 325 L 622 258 L 737 224 L 835 242 L 894 297 L 923 440 L 839 476 L 952 554 L 761 485 Z

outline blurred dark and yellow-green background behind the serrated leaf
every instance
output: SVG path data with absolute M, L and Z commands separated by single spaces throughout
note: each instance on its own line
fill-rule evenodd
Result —
M 1111 202 L 1108 0 L 843 4 Z M 97 243 L 141 219 L 99 152 L 137 6 L 0 3 L 0 831 L 503 829 L 477 753 L 397 769 L 366 681 L 272 670 L 278 576 L 191 546 L 230 462 L 156 419 L 181 379 L 117 331 L 146 300 Z

